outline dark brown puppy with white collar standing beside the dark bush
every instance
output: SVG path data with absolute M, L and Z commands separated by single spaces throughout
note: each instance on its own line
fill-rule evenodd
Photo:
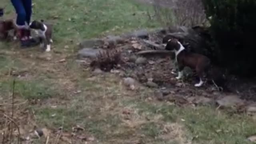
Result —
M 200 79 L 200 82 L 194 86 L 202 86 L 204 83 L 202 80 L 204 72 L 210 68 L 210 59 L 202 54 L 187 52 L 184 46 L 182 46 L 182 44 L 175 38 L 168 40 L 165 49 L 175 52 L 175 58 L 178 62 L 179 70 L 178 77 L 176 77 L 176 79 L 182 78 L 183 69 L 185 66 L 188 66 L 196 70 L 196 73 Z

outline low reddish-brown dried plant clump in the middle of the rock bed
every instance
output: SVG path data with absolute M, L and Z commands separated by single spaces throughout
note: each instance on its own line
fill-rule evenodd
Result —
M 100 51 L 100 53 L 96 56 L 96 59 L 93 60 L 90 64 L 92 68 L 100 68 L 105 72 L 109 72 L 114 67 L 116 67 L 121 59 L 121 51 L 117 49 L 107 49 L 104 51 Z

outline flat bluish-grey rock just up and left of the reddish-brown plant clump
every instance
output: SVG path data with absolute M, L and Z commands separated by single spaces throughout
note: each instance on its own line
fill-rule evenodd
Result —
M 83 48 L 78 51 L 79 58 L 96 58 L 100 51 L 104 51 L 101 48 Z

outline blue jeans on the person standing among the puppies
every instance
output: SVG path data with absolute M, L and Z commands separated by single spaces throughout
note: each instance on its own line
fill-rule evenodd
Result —
M 32 0 L 11 0 L 17 13 L 16 24 L 18 26 L 24 26 L 25 22 L 30 23 L 30 18 L 32 14 Z

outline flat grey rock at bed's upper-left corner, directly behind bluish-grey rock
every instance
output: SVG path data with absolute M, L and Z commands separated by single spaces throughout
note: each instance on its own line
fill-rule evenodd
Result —
M 104 45 L 104 40 L 102 39 L 84 40 L 79 44 L 80 48 L 97 48 L 98 46 L 102 45 Z

